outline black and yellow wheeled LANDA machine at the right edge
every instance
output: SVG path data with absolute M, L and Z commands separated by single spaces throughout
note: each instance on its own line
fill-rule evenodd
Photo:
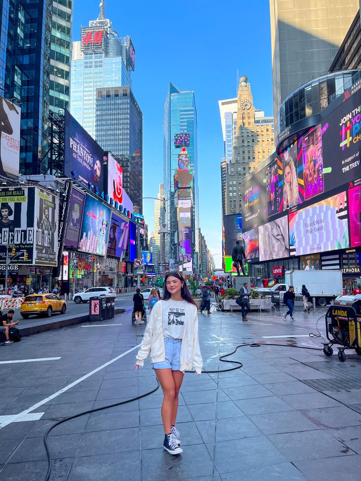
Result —
M 354 349 L 361 355 L 361 294 L 339 296 L 327 311 L 326 335 L 329 343 L 324 343 L 323 352 L 333 354 L 331 346 L 338 344 L 338 359 L 346 359 L 345 349 Z

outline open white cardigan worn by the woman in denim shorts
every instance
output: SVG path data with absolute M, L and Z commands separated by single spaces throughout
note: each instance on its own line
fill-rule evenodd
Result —
M 144 365 L 144 359 L 149 354 L 152 356 L 152 362 L 165 361 L 163 302 L 166 301 L 158 301 L 152 309 L 147 329 L 144 332 L 143 342 L 136 357 L 136 364 L 139 366 Z M 203 360 L 199 349 L 198 317 L 195 305 L 186 303 L 185 319 L 180 348 L 180 371 L 184 373 L 184 371 L 194 369 L 197 374 L 201 374 Z

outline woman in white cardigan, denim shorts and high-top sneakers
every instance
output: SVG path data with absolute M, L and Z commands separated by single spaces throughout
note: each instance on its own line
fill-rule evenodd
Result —
M 176 428 L 178 395 L 184 372 L 201 374 L 202 356 L 198 341 L 197 305 L 180 275 L 168 273 L 164 279 L 163 300 L 155 304 L 144 332 L 134 368 L 143 366 L 152 353 L 152 367 L 163 390 L 161 416 L 163 448 L 171 455 L 183 452 Z

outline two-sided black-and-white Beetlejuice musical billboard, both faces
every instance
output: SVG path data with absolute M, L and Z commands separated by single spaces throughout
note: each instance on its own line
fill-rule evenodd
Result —
M 36 187 L 0 189 L 0 263 L 56 266 L 59 199 Z M 12 255 L 14 254 L 14 256 Z

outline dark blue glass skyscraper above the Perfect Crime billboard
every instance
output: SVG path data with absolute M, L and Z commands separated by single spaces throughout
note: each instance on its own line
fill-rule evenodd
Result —
M 5 0 L 0 4 L 0 87 L 21 106 L 20 172 L 47 167 L 51 4 Z

